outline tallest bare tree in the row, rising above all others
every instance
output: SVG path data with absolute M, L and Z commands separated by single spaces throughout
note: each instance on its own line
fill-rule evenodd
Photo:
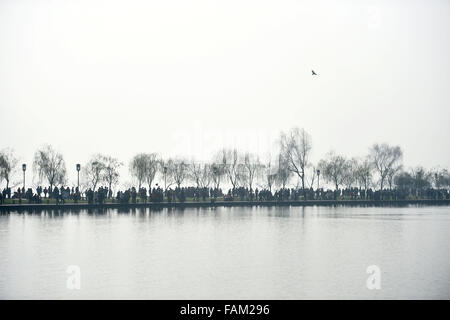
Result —
M 305 189 L 305 173 L 312 149 L 311 136 L 303 128 L 293 128 L 288 134 L 281 133 L 280 143 L 289 170 L 300 178 L 302 189 Z

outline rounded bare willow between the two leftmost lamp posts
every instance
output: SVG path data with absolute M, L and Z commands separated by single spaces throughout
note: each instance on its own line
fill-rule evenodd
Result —
M 39 179 L 47 179 L 50 191 L 53 190 L 53 186 L 66 182 L 66 163 L 64 158 L 61 153 L 55 151 L 50 145 L 44 145 L 35 152 L 33 170 L 37 172 Z

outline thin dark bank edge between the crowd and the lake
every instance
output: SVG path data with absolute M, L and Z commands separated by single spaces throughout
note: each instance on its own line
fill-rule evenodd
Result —
M 432 200 L 297 200 L 297 201 L 216 201 L 216 202 L 147 202 L 147 203 L 66 203 L 66 204 L 2 204 L 0 212 L 55 209 L 133 209 L 133 208 L 208 208 L 208 207 L 305 207 L 305 206 L 405 206 L 405 205 L 450 205 L 450 199 Z

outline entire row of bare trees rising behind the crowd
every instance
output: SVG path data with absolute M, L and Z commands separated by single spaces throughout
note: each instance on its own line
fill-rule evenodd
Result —
M 129 164 L 131 176 L 137 187 L 151 189 L 155 181 L 162 181 L 164 189 L 181 187 L 188 182 L 196 187 L 231 188 L 255 187 L 272 190 L 274 186 L 286 188 L 297 181 L 296 188 L 319 187 L 319 179 L 334 188 L 360 189 L 378 186 L 381 190 L 395 187 L 434 186 L 450 187 L 450 175 L 446 169 L 427 171 L 422 167 L 406 172 L 403 170 L 403 153 L 399 146 L 374 144 L 364 158 L 346 158 L 329 152 L 316 165 L 310 161 L 311 136 L 304 130 L 293 128 L 282 132 L 279 151 L 274 158 L 261 161 L 258 155 L 223 149 L 217 152 L 210 163 L 199 163 L 186 159 L 163 159 L 156 153 L 139 153 Z M 4 179 L 9 186 L 11 173 L 18 160 L 11 149 L 0 152 L 0 183 Z M 114 189 L 119 183 L 119 169 L 123 163 L 118 159 L 96 154 L 82 166 L 83 189 L 95 190 L 100 185 Z M 36 151 L 33 169 L 39 181 L 45 180 L 50 187 L 67 183 L 66 165 L 63 155 L 50 145 Z

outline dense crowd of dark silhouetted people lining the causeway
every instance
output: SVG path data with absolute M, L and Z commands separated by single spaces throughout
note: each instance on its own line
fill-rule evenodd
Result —
M 38 186 L 34 191 L 32 188 L 18 188 L 12 192 L 11 188 L 5 188 L 0 192 L 0 204 L 5 199 L 22 199 L 28 203 L 42 203 L 42 199 L 55 199 L 56 203 L 65 203 L 67 200 L 78 202 L 87 200 L 89 204 L 104 204 L 107 199 L 117 201 L 121 204 L 137 202 L 185 202 L 187 199 L 192 201 L 215 201 L 222 198 L 224 201 L 297 201 L 297 200 L 407 200 L 407 199 L 450 199 L 450 193 L 447 189 L 392 189 L 392 190 L 373 190 L 359 188 L 343 188 L 337 190 L 324 189 L 298 189 L 281 188 L 278 190 L 258 189 L 237 187 L 229 189 L 223 194 L 222 189 L 218 188 L 198 188 L 198 187 L 175 187 L 164 191 L 160 186 L 152 188 L 151 191 L 145 187 L 138 190 L 132 187 L 124 191 L 118 191 L 115 199 L 112 197 L 112 190 L 107 187 L 100 187 L 96 191 L 88 189 L 83 194 L 78 187 L 44 187 Z

